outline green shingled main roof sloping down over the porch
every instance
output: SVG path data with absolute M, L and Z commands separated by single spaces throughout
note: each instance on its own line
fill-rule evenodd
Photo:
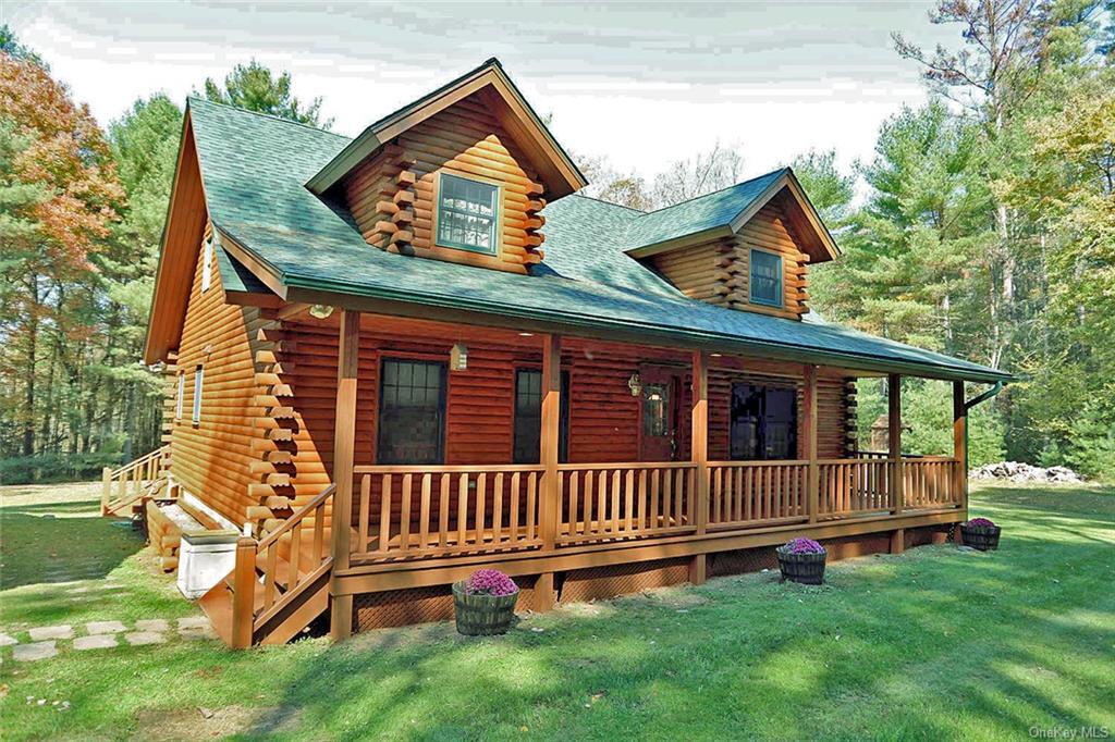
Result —
M 190 113 L 214 225 L 251 251 L 284 285 L 561 323 L 585 330 L 728 350 L 793 351 L 924 375 L 998 380 L 1006 374 L 832 324 L 728 310 L 682 296 L 623 254 L 640 212 L 566 196 L 544 212 L 545 265 L 533 275 L 396 255 L 369 247 L 342 207 L 303 184 L 347 137 L 192 98 Z M 775 174 L 772 174 L 775 175 Z M 757 179 L 760 180 L 760 179 Z M 760 187 L 753 184 L 750 189 Z M 749 189 L 741 189 L 746 197 Z M 663 216 L 661 228 L 719 218 L 734 189 Z M 652 214 L 666 214 L 662 209 Z M 738 213 L 739 209 L 736 211 Z M 622 227 L 627 228 L 622 228 Z M 642 227 L 639 227 L 640 230 Z M 622 233 L 622 236 L 621 236 Z

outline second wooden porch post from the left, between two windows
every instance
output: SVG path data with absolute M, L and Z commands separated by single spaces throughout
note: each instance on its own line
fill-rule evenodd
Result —
M 542 472 L 542 550 L 553 551 L 558 540 L 558 520 L 561 517 L 558 487 L 558 445 L 561 439 L 561 335 L 547 334 L 542 339 L 542 450 L 539 461 Z M 554 607 L 554 574 L 544 572 L 534 584 L 534 609 Z

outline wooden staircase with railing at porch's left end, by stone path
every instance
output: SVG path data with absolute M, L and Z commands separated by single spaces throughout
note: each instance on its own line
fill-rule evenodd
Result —
M 236 543 L 235 568 L 201 599 L 229 646 L 283 644 L 329 607 L 334 490 L 330 485 L 262 540 Z

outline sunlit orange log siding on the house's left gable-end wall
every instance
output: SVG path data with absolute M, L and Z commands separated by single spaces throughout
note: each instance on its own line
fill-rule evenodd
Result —
M 252 441 L 261 431 L 253 421 L 262 413 L 255 407 L 254 363 L 250 334 L 260 322 L 260 310 L 224 303 L 216 260 L 212 284 L 202 293 L 202 255 L 198 251 L 193 287 L 182 330 L 177 368 L 185 374 L 182 418 L 171 426 L 171 472 L 185 489 L 230 520 L 243 523 L 245 509 L 254 505 L 248 486 L 259 455 Z M 204 367 L 201 423 L 192 423 L 194 375 Z M 175 385 L 177 380 L 169 379 Z

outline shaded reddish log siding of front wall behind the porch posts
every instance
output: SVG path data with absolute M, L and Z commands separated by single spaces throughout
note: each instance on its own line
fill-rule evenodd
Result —
M 445 463 L 507 465 L 514 445 L 514 371 L 541 368 L 541 349 L 534 341 L 524 345 L 481 339 L 462 328 L 460 335 L 428 334 L 400 329 L 395 332 L 365 326 L 360 340 L 360 375 L 356 431 L 357 466 L 375 465 L 376 409 L 379 367 L 384 358 L 417 358 L 447 362 L 454 342 L 468 345 L 468 369 L 447 374 L 447 420 Z M 293 391 L 290 403 L 298 416 L 294 490 L 300 498 L 312 496 L 330 481 L 333 418 L 336 413 L 337 330 L 334 328 L 284 322 L 278 353 L 290 370 L 282 374 Z M 532 343 L 532 344 L 526 344 Z M 628 387 L 631 373 L 646 364 L 669 364 L 680 377 L 679 457 L 689 456 L 690 374 L 688 354 L 636 349 L 628 345 L 566 339 L 562 346 L 562 369 L 570 374 L 571 463 L 638 461 L 639 398 Z M 799 377 L 786 377 L 784 364 L 763 361 L 716 359 L 720 367 L 709 373 L 709 456 L 728 458 L 729 402 L 735 380 L 759 383 L 792 383 L 801 389 Z M 779 374 L 777 377 L 764 373 Z M 773 379 L 773 380 L 772 380 Z M 801 394 L 798 397 L 801 403 Z M 818 456 L 840 457 L 844 450 L 844 380 L 822 375 L 818 380 Z M 799 436 L 801 440 L 801 436 Z M 798 456 L 804 456 L 799 451 Z M 374 482 L 378 491 L 379 482 Z M 359 487 L 359 485 L 358 485 Z M 359 490 L 357 489 L 357 492 Z M 455 495 L 454 495 L 455 496 Z M 378 507 L 372 498 L 372 511 Z M 454 510 L 455 512 L 455 510 Z

